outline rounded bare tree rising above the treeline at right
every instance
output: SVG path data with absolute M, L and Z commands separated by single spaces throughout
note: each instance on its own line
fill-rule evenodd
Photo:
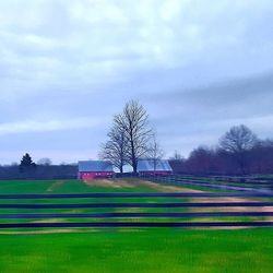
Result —
M 246 126 L 233 127 L 219 139 L 219 147 L 234 156 L 240 171 L 246 171 L 247 153 L 257 144 L 257 135 Z

